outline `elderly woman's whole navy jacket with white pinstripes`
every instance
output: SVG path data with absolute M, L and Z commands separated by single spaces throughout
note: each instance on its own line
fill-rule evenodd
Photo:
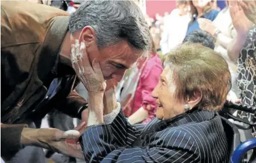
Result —
M 220 116 L 197 110 L 131 126 L 122 111 L 110 125 L 87 128 L 80 139 L 86 162 L 228 162 Z

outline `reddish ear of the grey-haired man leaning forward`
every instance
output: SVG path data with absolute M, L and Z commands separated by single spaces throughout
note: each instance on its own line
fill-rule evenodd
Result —
M 93 27 L 85 26 L 80 32 L 79 43 L 85 42 L 86 47 L 91 44 L 96 44 L 96 33 Z

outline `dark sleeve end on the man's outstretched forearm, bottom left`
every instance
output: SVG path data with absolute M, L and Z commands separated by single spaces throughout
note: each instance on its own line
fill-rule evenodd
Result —
M 21 150 L 20 137 L 25 124 L 19 125 L 6 125 L 1 123 L 1 157 L 3 160 L 8 161 Z

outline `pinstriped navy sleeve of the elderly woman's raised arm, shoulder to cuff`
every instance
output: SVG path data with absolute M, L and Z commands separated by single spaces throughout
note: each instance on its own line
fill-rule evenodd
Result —
M 197 143 L 187 133 L 167 132 L 150 146 L 135 147 L 130 142 L 139 134 L 124 120 L 121 113 L 110 125 L 87 128 L 80 142 L 86 162 L 199 162 Z

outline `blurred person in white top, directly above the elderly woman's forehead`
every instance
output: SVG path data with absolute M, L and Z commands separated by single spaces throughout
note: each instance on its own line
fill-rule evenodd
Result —
M 174 50 L 184 40 L 190 23 L 189 5 L 187 1 L 176 1 L 176 9 L 164 21 L 164 29 L 160 47 L 163 54 Z

